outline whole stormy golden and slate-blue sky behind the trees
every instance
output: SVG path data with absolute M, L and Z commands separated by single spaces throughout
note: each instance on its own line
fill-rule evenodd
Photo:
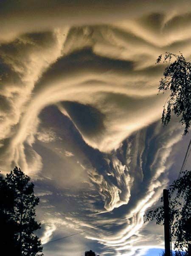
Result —
M 188 0 L 0 1 L 0 170 L 31 176 L 45 256 L 163 249 L 163 227 L 143 215 L 177 178 L 190 134 L 176 117 L 161 124 L 169 93 L 157 94 L 166 64 L 155 62 L 166 51 L 191 59 L 190 10 Z

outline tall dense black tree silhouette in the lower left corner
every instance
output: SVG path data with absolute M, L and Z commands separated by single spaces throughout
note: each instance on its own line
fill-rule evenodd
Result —
M 40 228 L 35 221 L 39 198 L 34 196 L 34 184 L 29 181 L 30 177 L 17 167 L 5 178 L 0 176 L 0 243 L 6 255 L 43 255 L 37 254 L 42 247 L 34 235 Z

